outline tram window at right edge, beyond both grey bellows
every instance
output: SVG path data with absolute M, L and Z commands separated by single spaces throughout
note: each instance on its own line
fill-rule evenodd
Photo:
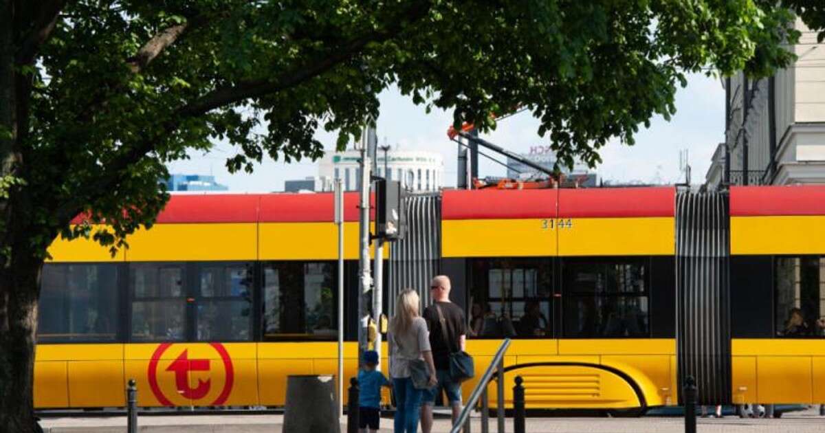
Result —
M 776 335 L 825 337 L 825 257 L 777 257 Z

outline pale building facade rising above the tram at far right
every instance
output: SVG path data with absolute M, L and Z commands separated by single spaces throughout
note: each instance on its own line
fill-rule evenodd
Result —
M 725 141 L 708 186 L 825 183 L 825 44 L 799 19 L 798 59 L 771 78 L 724 80 Z

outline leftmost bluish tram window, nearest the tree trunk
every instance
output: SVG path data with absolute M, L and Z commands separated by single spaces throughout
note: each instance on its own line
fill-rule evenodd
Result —
M 118 266 L 43 266 L 37 340 L 115 341 Z

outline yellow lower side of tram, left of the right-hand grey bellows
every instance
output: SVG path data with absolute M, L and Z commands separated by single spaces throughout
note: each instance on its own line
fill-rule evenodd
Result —
M 476 378 L 464 383 L 465 399 L 500 344 L 468 341 Z M 565 353 L 559 355 L 562 346 Z M 633 408 L 640 405 L 639 393 L 648 406 L 667 404 L 662 388 L 673 381 L 671 346 L 657 340 L 513 341 L 504 359 L 510 369 L 505 404 L 512 406 L 516 375 L 525 379 L 528 407 Z M 347 387 L 357 374 L 356 353 L 356 343 L 347 342 Z M 382 353 L 386 371 L 386 344 Z M 37 354 L 35 406 L 40 408 L 122 407 L 129 379 L 137 381 L 142 407 L 283 406 L 290 374 L 337 374 L 335 342 L 43 345 Z M 494 407 L 496 385 L 490 386 Z M 389 393 L 384 402 L 389 403 Z

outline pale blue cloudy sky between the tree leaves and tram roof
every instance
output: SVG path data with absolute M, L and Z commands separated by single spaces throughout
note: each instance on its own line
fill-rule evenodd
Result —
M 389 144 L 403 150 L 428 150 L 441 153 L 444 158 L 446 186 L 455 186 L 457 144 L 446 135 L 452 115 L 433 109 L 429 115 L 423 106 L 416 106 L 407 96 L 392 87 L 380 94 L 381 111 L 376 126 L 380 144 Z M 483 134 L 503 148 L 516 153 L 527 153 L 531 146 L 549 144 L 538 134 L 539 121 L 529 112 L 522 112 L 501 120 L 497 129 Z M 317 138 L 332 151 L 335 136 L 326 132 Z M 679 153 L 687 149 L 691 165 L 691 183 L 701 184 L 710 165 L 714 150 L 724 139 L 724 89 L 719 78 L 702 74 L 691 75 L 688 85 L 676 94 L 676 115 L 671 120 L 657 116 L 650 128 L 643 125 L 636 134 L 632 147 L 618 140 L 601 149 L 601 164 L 595 168 L 604 181 L 672 184 L 684 181 L 680 172 Z M 315 162 L 274 162 L 264 160 L 252 174 L 231 174 L 225 161 L 235 151 L 229 144 L 215 143 L 210 153 L 190 153 L 189 160 L 172 162 L 169 172 L 174 174 L 211 174 L 215 180 L 229 186 L 233 192 L 283 191 L 284 181 L 302 179 L 318 174 Z M 503 159 L 503 158 L 502 158 Z M 506 169 L 486 158 L 479 157 L 479 177 L 504 176 Z

